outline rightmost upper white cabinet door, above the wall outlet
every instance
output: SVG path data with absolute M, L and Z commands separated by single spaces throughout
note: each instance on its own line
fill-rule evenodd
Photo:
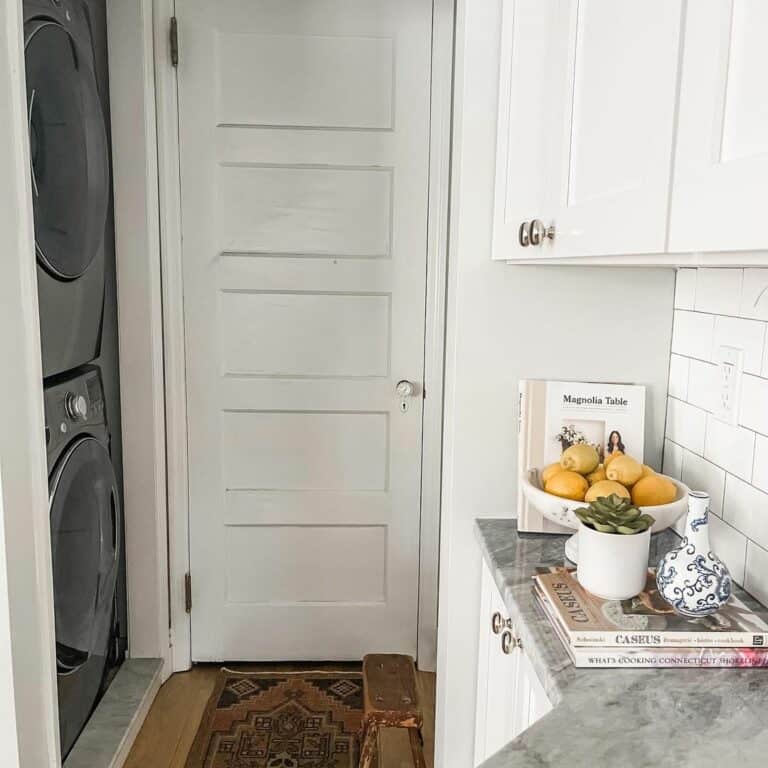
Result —
M 768 248 L 768 3 L 688 3 L 669 249 Z

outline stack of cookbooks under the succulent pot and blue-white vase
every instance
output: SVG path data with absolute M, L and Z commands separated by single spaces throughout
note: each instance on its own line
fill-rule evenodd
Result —
M 533 591 L 577 667 L 768 667 L 768 616 L 736 596 L 710 616 L 676 614 L 656 575 L 629 600 L 587 592 L 568 568 L 540 568 Z

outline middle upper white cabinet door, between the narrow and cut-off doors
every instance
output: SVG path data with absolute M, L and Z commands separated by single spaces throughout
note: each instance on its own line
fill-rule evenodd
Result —
M 553 93 L 562 127 L 553 255 L 662 252 L 681 0 L 567 0 L 567 7 L 553 54 L 565 91 Z

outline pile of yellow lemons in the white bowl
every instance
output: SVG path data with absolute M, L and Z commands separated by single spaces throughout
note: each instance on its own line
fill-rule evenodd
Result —
M 595 501 L 615 493 L 632 499 L 638 507 L 669 504 L 677 496 L 675 484 L 657 475 L 621 451 L 609 454 L 603 464 L 591 445 L 579 443 L 566 448 L 560 461 L 541 472 L 544 490 L 573 501 Z

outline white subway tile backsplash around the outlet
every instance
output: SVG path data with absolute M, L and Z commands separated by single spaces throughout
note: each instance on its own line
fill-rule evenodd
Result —
M 768 603 L 768 269 L 681 269 L 664 469 L 711 497 L 710 540 L 735 581 Z M 738 425 L 718 420 L 715 360 L 744 354 Z M 684 520 L 680 523 L 684 524 Z M 684 527 L 684 525 L 682 526 Z

